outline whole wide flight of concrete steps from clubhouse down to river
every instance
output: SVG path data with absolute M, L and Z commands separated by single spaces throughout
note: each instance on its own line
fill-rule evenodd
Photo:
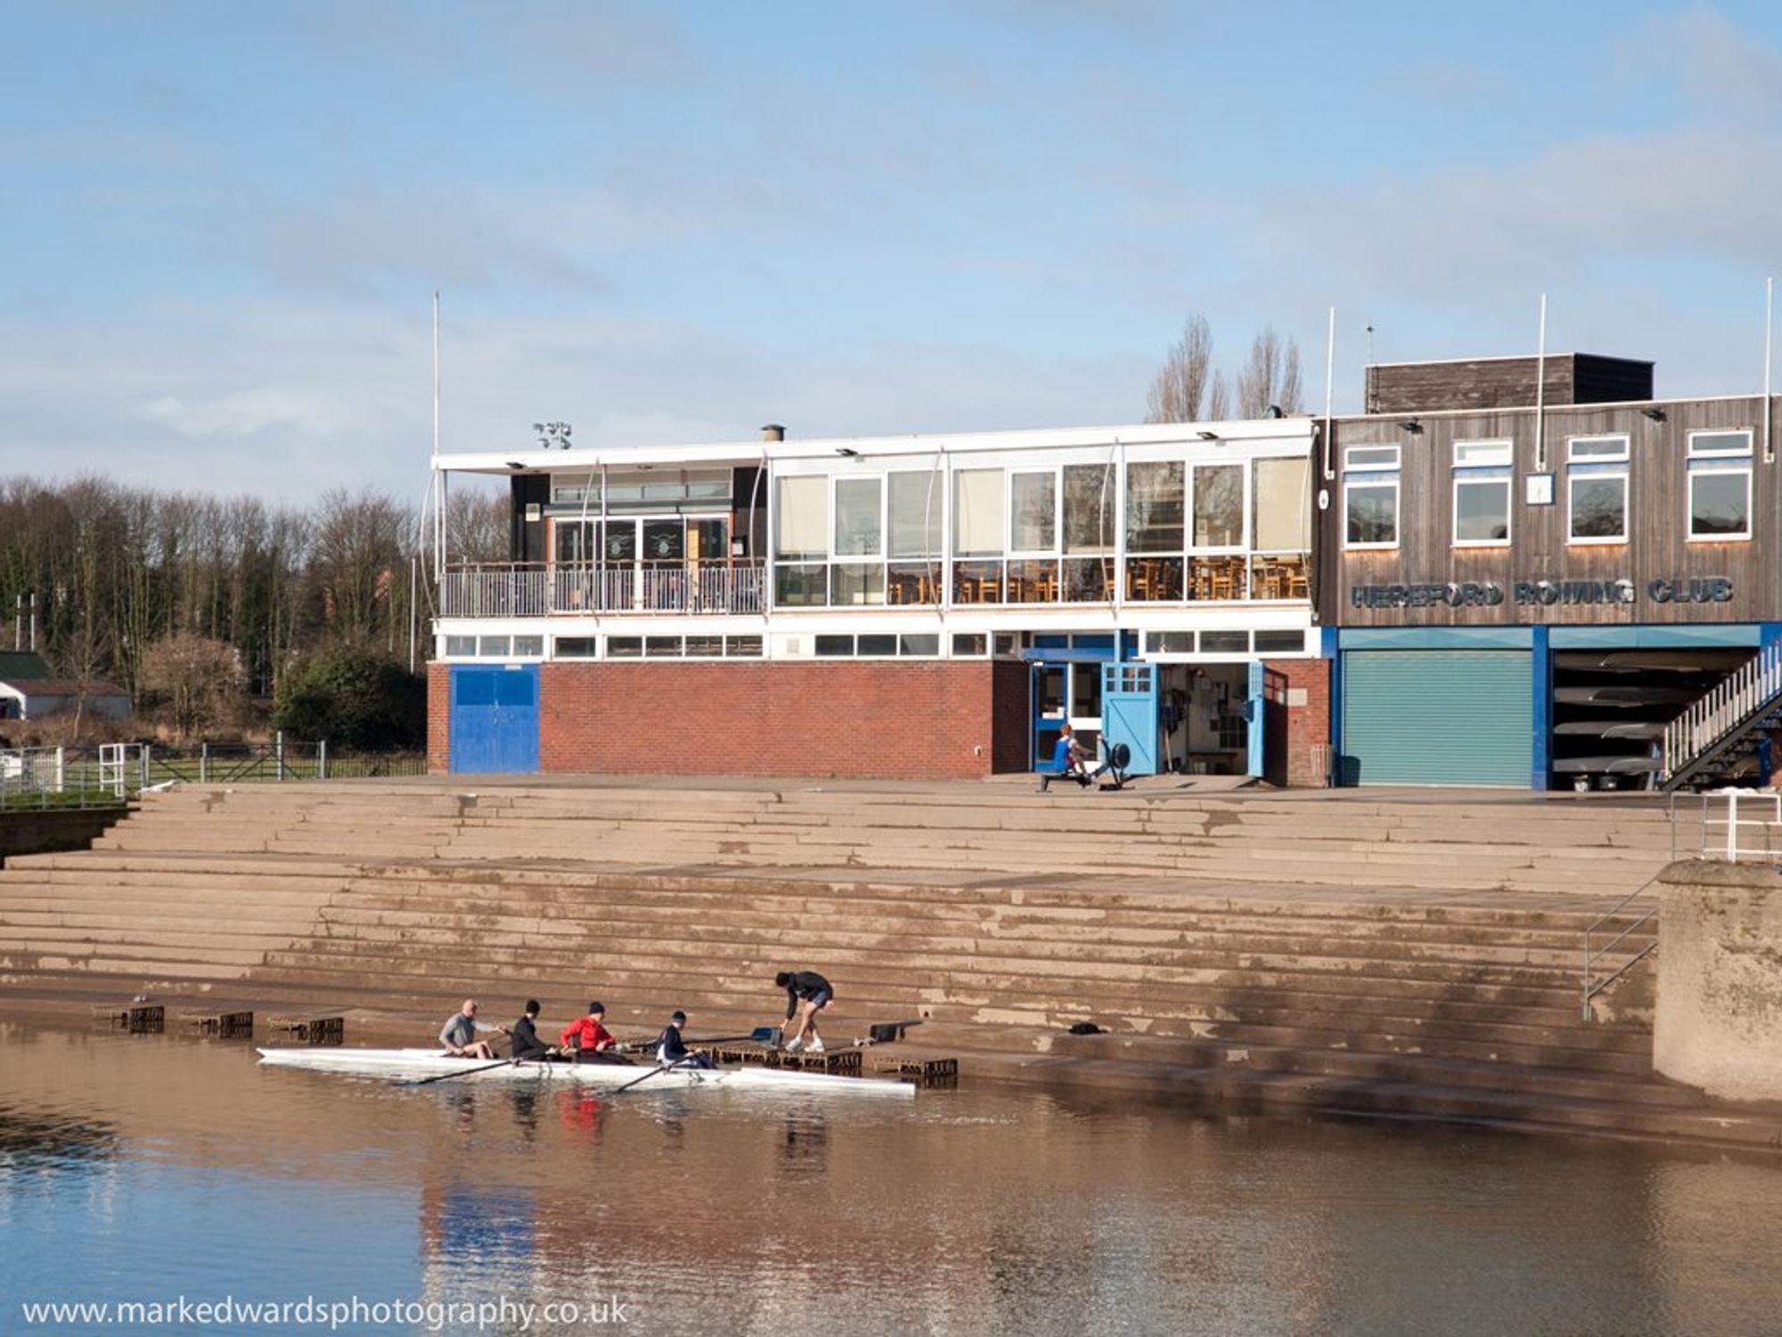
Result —
M 547 1020 L 599 995 L 638 1032 L 684 1007 L 716 1034 L 775 1020 L 772 973 L 814 966 L 838 1038 L 921 1016 L 912 1038 L 968 1073 L 1782 1132 L 1654 1079 L 1648 973 L 1581 1021 L 1582 931 L 1668 857 L 1636 806 L 264 786 L 155 795 L 102 845 L 0 874 L 0 980 L 360 1004 L 417 1030 L 467 993 L 535 995 Z M 1107 1034 L 1066 1034 L 1085 1020 Z

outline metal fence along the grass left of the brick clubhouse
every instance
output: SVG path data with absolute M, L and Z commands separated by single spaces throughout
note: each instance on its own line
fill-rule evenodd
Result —
M 421 752 L 358 752 L 283 736 L 269 743 L 102 743 L 98 747 L 0 749 L 0 811 L 20 808 L 116 808 L 176 781 L 249 784 L 280 781 L 426 775 Z

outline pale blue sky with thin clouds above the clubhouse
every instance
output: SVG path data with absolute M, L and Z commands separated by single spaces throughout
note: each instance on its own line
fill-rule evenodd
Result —
M 1183 321 L 1762 381 L 1782 7 L 0 0 L 0 478 L 1137 422 Z M 1369 333 L 1372 326 L 1372 333 Z

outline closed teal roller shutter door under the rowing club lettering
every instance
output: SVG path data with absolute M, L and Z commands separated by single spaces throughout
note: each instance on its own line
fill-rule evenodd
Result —
M 1524 651 L 1344 652 L 1344 777 L 1351 784 L 1511 784 L 1534 761 Z

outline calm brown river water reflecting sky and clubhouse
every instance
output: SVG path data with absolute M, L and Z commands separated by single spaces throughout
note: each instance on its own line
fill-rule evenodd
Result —
M 0 1041 L 7 1335 L 1782 1333 L 1782 1161 L 1009 1087 L 613 1098 L 266 1070 L 230 1041 Z

